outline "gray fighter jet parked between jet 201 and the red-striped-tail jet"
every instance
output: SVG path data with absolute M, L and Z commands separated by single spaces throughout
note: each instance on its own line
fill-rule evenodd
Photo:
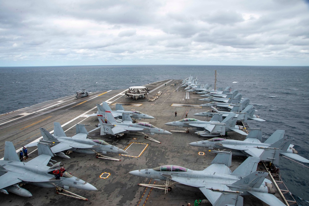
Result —
M 62 152 L 66 150 L 83 154 L 106 154 L 107 152 L 127 154 L 123 149 L 109 145 L 103 140 L 87 139 L 88 132 L 82 124 L 76 124 L 76 134 L 73 137 L 67 137 L 58 122 L 54 122 L 54 135 L 50 134 L 44 128 L 40 128 L 40 130 L 43 136 L 43 139 L 40 140 L 40 142 L 54 145 L 50 148 L 51 151 L 62 158 L 70 158 Z M 36 143 L 31 143 L 26 146 L 35 146 L 34 144 L 36 145 Z

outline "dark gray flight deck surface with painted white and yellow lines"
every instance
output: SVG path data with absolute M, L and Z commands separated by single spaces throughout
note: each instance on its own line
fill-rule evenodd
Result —
M 175 86 L 170 86 L 178 82 Z M 88 117 L 85 114 L 92 114 L 97 111 L 96 104 L 107 101 L 112 110 L 115 110 L 115 103 L 124 104 L 125 110 L 137 110 L 155 117 L 145 119 L 154 126 L 165 130 L 182 130 L 167 126 L 164 123 L 185 118 L 186 111 L 188 118 L 196 118 L 193 114 L 206 111 L 210 108 L 202 108 L 199 95 L 186 95 L 183 87 L 179 87 L 182 80 L 164 80 L 148 85 L 150 94 L 148 98 L 155 96 L 157 91 L 162 91 L 161 96 L 149 102 L 148 99 L 131 99 L 126 97 L 125 90 L 110 90 L 92 92 L 88 97 L 75 99 L 75 96 L 64 97 L 23 108 L 0 116 L 0 157 L 4 155 L 4 142 L 12 141 L 15 148 L 19 149 L 37 138 L 41 137 L 40 127 L 49 132 L 54 129 L 54 122 L 59 122 L 68 137 L 75 134 L 75 124 L 89 124 L 88 131 L 96 128 L 98 123 L 96 116 Z M 166 86 L 165 86 L 166 83 Z M 128 85 L 134 86 L 134 85 Z M 174 104 L 174 105 L 173 105 Z M 175 117 L 177 111 L 177 117 Z M 205 117 L 197 117 L 200 120 L 207 120 Z M 65 125 L 64 125 L 65 124 Z M 250 123 L 249 123 L 250 124 Z M 106 156 L 118 158 L 121 161 L 98 159 L 95 155 L 71 153 L 71 159 L 53 157 L 57 162 L 64 162 L 64 167 L 73 175 L 91 183 L 98 191 L 83 191 L 70 188 L 71 192 L 88 198 L 88 201 L 73 199 L 56 194 L 54 188 L 43 188 L 26 184 L 23 187 L 32 193 L 31 198 L 21 197 L 10 193 L 0 193 L 0 205 L 169 205 L 181 206 L 191 203 L 197 198 L 205 199 L 199 190 L 187 191 L 173 187 L 172 191 L 164 194 L 163 190 L 150 189 L 138 186 L 138 183 L 153 184 L 154 180 L 144 179 L 129 174 L 129 171 L 155 168 L 162 165 L 178 165 L 192 170 L 204 170 L 210 165 L 215 154 L 207 149 L 191 147 L 188 143 L 207 139 L 199 137 L 193 131 L 172 132 L 172 135 L 150 135 L 161 144 L 144 138 L 144 135 L 125 135 L 120 138 L 102 136 L 100 129 L 91 132 L 88 137 L 92 139 L 103 139 L 107 143 L 126 149 L 128 154 L 115 155 L 107 153 Z M 135 139 L 133 139 L 135 138 Z M 229 133 L 227 138 L 243 140 L 244 136 L 236 132 Z M 30 159 L 37 156 L 37 151 L 31 153 L 35 147 L 28 148 Z M 204 152 L 205 155 L 199 155 Z M 31 153 L 31 154 L 29 154 Z M 235 170 L 245 158 L 233 157 L 231 170 Z M 26 160 L 27 161 L 27 160 Z M 103 174 L 104 173 L 104 174 Z M 100 178 L 100 176 L 104 178 Z M 107 178 L 106 178 L 107 177 Z M 165 182 L 156 181 L 155 184 L 163 185 Z M 275 189 L 275 188 L 274 188 Z M 276 192 L 276 196 L 279 196 Z M 200 205 L 211 205 L 203 203 Z M 266 205 L 261 200 L 253 197 L 244 197 L 244 205 Z

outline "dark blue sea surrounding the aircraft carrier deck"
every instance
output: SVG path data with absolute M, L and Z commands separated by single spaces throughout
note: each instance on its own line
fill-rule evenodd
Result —
M 68 95 L 77 90 L 127 89 L 164 79 L 191 75 L 200 83 L 232 86 L 250 99 L 256 115 L 266 122 L 249 121 L 263 128 L 264 140 L 275 130 L 294 137 L 298 154 L 309 159 L 309 66 L 116 65 L 0 67 L 0 114 Z M 300 205 L 309 205 L 309 169 L 281 158 L 281 177 Z M 308 164 L 307 164 L 308 166 Z M 302 198 L 303 200 L 299 199 Z M 307 200 L 307 201 L 306 201 Z

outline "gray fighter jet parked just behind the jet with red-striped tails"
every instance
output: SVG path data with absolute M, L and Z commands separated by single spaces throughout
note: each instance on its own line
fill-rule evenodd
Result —
M 114 118 L 118 118 L 118 117 L 121 118 L 122 114 L 126 113 L 126 114 L 129 114 L 131 116 L 131 118 L 135 118 L 135 119 L 139 119 L 139 120 L 141 120 L 141 119 L 154 119 L 153 116 L 143 114 L 140 111 L 124 111 L 124 108 L 122 107 L 121 104 L 116 104 L 116 111 L 112 111 L 111 108 L 108 106 L 107 102 L 102 102 L 102 106 L 100 106 L 100 107 L 101 107 L 102 111 L 110 111 L 112 113 L 112 115 L 114 116 Z M 97 114 L 99 114 L 99 111 L 97 111 L 97 113 L 94 114 L 94 115 L 97 116 Z M 94 115 L 91 115 L 91 116 L 94 116 Z

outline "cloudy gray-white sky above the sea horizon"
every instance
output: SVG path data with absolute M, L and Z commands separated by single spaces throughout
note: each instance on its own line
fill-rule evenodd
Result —
M 0 1 L 0 66 L 144 64 L 309 65 L 309 1 Z

